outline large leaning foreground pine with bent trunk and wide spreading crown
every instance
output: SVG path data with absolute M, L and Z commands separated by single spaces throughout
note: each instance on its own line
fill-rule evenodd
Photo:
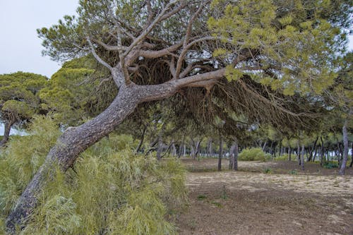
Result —
M 351 1 L 80 0 L 77 17 L 38 30 L 44 54 L 55 60 L 92 54 L 119 92 L 104 112 L 59 137 L 8 215 L 8 232 L 37 206 L 56 164 L 62 171 L 73 166 L 142 102 L 190 87 L 209 92 L 223 78 L 242 86 L 244 76 L 285 95 L 321 92 L 335 78 L 337 27 L 349 24 L 351 9 Z M 280 102 L 258 94 L 263 104 Z

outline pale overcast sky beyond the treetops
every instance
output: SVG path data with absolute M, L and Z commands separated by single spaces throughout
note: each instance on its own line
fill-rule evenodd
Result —
M 60 64 L 42 56 L 36 29 L 75 14 L 77 6 L 78 0 L 0 0 L 0 74 L 23 71 L 50 78 Z

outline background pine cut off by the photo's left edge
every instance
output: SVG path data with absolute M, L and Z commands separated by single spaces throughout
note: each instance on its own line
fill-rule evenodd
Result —
M 23 123 L 41 112 L 38 92 L 46 83 L 46 77 L 35 73 L 0 75 L 0 114 L 5 125 L 1 146 L 7 142 L 13 124 Z

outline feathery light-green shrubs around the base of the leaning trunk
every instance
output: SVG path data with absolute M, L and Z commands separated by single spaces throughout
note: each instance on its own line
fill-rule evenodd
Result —
M 56 129 L 54 123 L 52 126 Z M 35 143 L 36 135 L 41 134 L 32 133 L 28 138 Z M 56 137 L 51 138 L 54 141 Z M 19 234 L 176 234 L 165 217 L 168 210 L 180 207 L 186 200 L 184 169 L 176 159 L 157 162 L 153 157 L 135 155 L 130 145 L 114 143 L 119 138 L 104 138 L 85 150 L 73 169 L 66 173 L 57 170 L 40 195 L 40 205 Z M 47 150 L 35 157 L 41 160 L 35 162 L 43 161 L 52 146 L 49 143 Z M 11 164 L 13 144 L 9 143 L 8 150 L 1 155 L 1 165 Z M 22 145 L 23 152 L 25 146 Z M 27 147 L 27 151 L 37 150 Z M 16 159 L 32 162 L 34 155 L 29 153 Z M 0 182 L 0 191 L 6 192 L 0 198 L 3 217 L 37 169 L 31 167 L 23 173 L 25 178 L 16 179 L 14 173 L 20 168 L 13 165 L 11 171 L 1 171 L 6 175 Z M 2 223 L 0 220 L 4 226 L 4 220 Z

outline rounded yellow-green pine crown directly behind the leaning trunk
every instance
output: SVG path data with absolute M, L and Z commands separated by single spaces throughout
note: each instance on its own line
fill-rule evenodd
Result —
M 67 61 L 40 90 L 42 108 L 64 126 L 76 126 L 100 114 L 112 102 L 116 90 L 104 80 L 92 56 Z

